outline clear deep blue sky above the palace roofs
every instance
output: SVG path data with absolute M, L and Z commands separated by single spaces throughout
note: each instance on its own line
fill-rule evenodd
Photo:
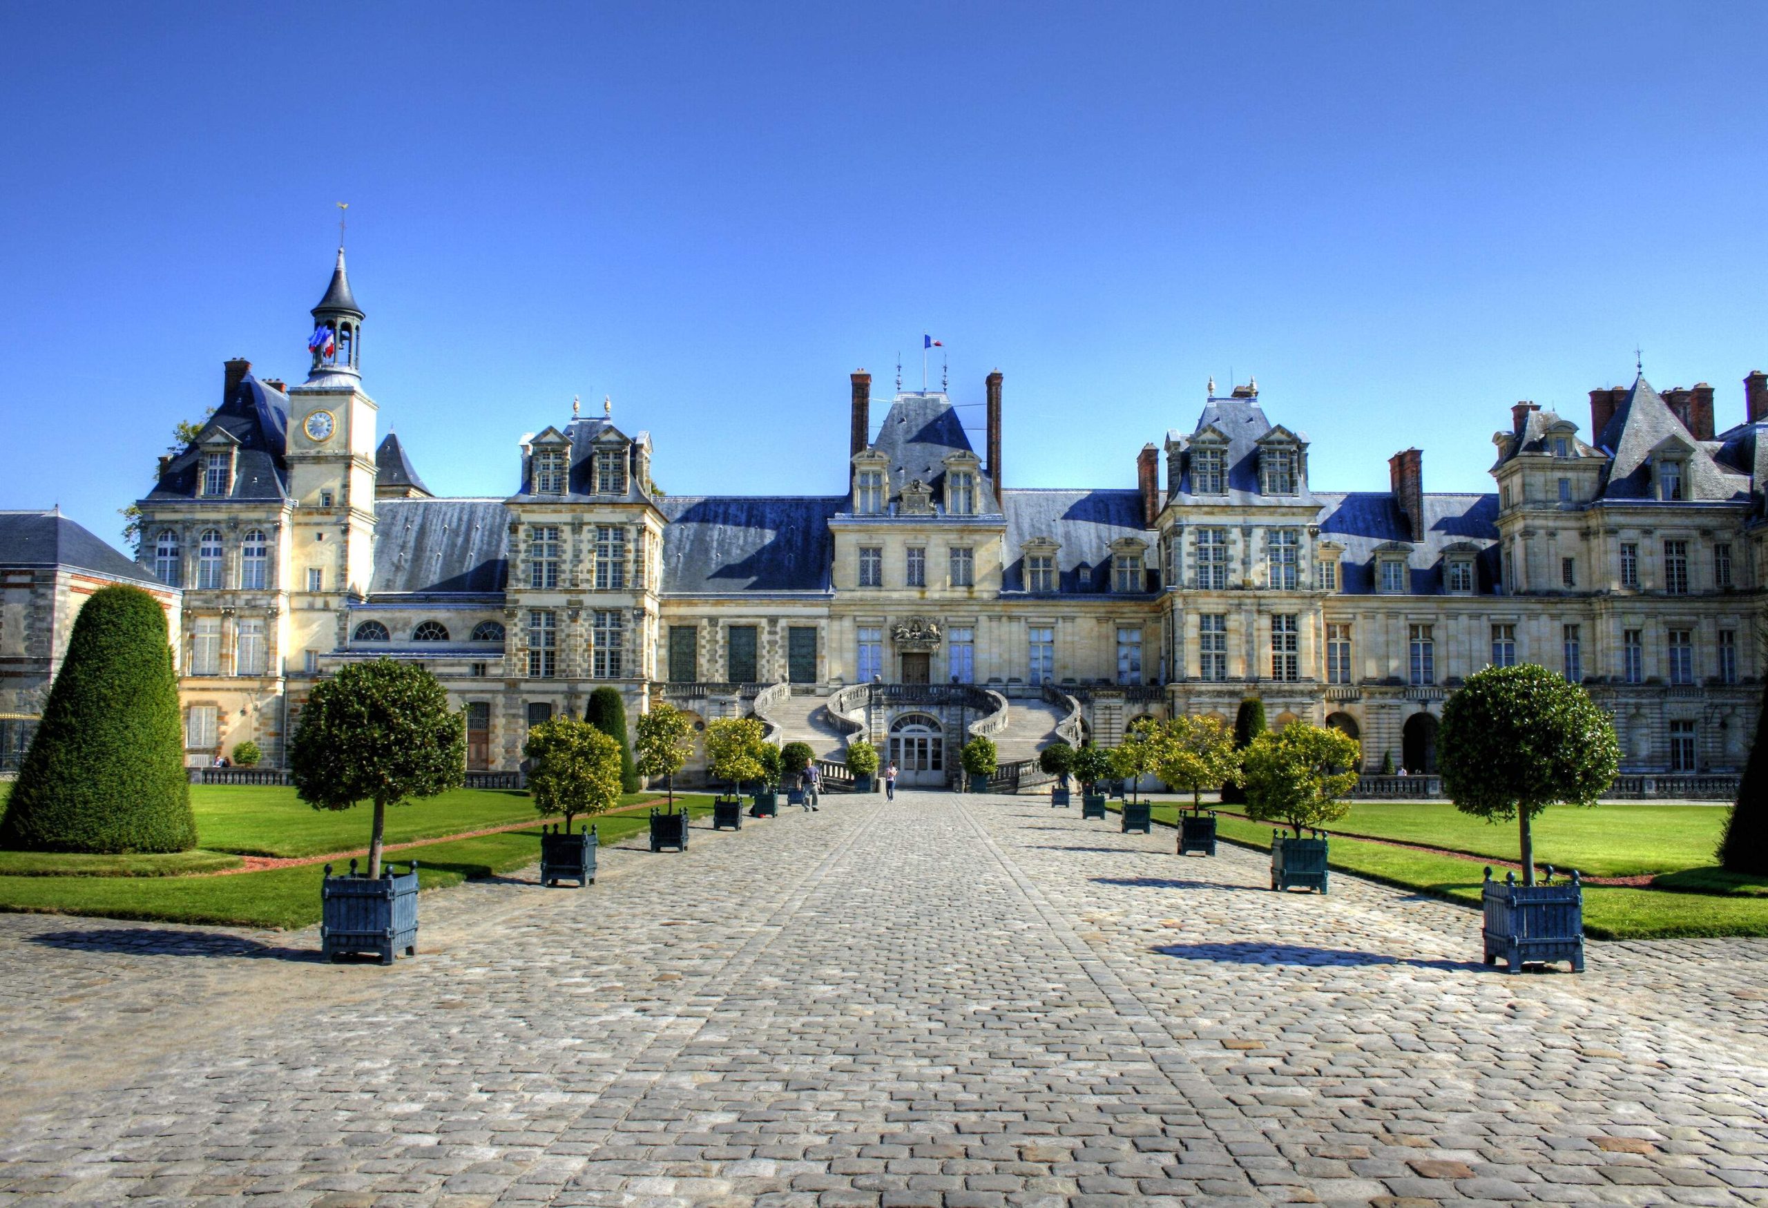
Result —
M 221 361 L 364 384 L 444 493 L 573 394 L 675 493 L 845 483 L 847 375 L 1006 375 L 1133 486 L 1257 375 L 1319 488 L 1485 490 L 1519 398 L 1768 368 L 1768 5 L 7 5 L 0 506 L 117 539 Z M 937 368 L 935 368 L 937 375 Z M 965 412 L 979 426 L 981 409 Z M 875 407 L 873 419 L 882 417 Z M 979 440 L 978 440 L 979 444 Z

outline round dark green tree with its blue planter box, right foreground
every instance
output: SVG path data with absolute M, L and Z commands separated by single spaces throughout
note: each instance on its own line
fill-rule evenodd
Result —
M 1519 821 L 1522 884 L 1485 879 L 1485 962 L 1512 973 L 1528 960 L 1584 969 L 1584 891 L 1577 874 L 1536 884 L 1529 822 L 1549 805 L 1595 805 L 1614 782 L 1614 723 L 1581 684 L 1520 663 L 1487 667 L 1443 706 L 1437 769 L 1462 814 Z

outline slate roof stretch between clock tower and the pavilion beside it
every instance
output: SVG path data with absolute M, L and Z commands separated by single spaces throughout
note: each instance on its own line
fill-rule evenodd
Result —
M 497 593 L 509 578 L 500 499 L 380 499 L 370 596 Z

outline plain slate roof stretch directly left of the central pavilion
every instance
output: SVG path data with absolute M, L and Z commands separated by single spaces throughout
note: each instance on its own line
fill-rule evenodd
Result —
M 670 495 L 659 506 L 665 593 L 829 591 L 829 518 L 847 495 Z

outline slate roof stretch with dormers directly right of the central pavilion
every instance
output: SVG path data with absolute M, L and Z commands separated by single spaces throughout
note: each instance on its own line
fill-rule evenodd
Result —
M 1006 495 L 1006 566 L 1002 591 L 1025 591 L 1025 555 L 1022 547 L 1033 538 L 1059 543 L 1055 552 L 1057 591 L 1109 593 L 1110 543 L 1140 538 L 1155 548 L 1155 534 L 1142 529 L 1142 495 L 1133 490 L 1036 490 L 1008 488 Z M 1151 564 L 1151 554 L 1144 554 Z M 1080 568 L 1091 582 L 1080 585 Z M 1105 573 L 1100 573 L 1100 566 Z M 1149 566 L 1149 570 L 1155 570 Z

